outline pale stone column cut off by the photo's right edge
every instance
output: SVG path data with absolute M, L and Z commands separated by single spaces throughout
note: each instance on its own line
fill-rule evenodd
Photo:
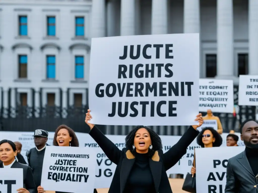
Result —
M 258 75 L 258 1 L 249 0 L 249 65 L 250 75 Z

